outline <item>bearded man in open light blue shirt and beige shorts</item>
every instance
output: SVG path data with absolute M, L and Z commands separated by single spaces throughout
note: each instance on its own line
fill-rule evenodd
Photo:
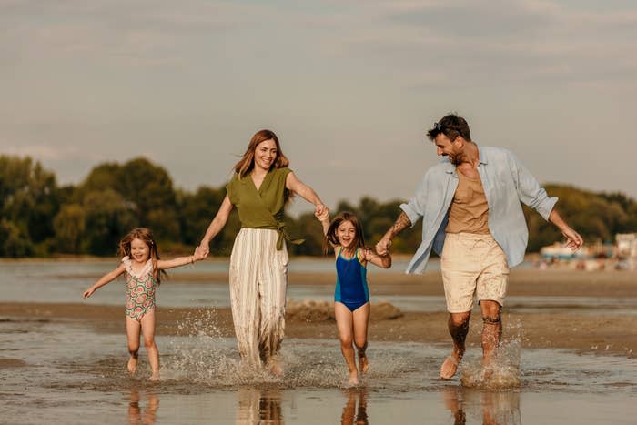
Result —
M 509 268 L 521 263 L 529 238 L 521 202 L 560 228 L 567 247 L 579 249 L 583 240 L 554 208 L 557 197 L 548 197 L 510 151 L 476 145 L 464 118 L 444 116 L 427 136 L 444 158 L 425 173 L 416 195 L 400 206 L 399 218 L 376 250 L 379 255 L 386 254 L 392 238 L 423 219 L 422 243 L 407 273 L 425 268 L 431 248 L 440 255 L 453 339 L 453 350 L 440 367 L 440 378 L 451 379 L 465 351 L 474 294 L 482 313 L 485 369 L 497 352 Z

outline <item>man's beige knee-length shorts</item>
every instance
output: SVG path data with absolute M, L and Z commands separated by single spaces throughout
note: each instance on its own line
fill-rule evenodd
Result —
M 509 267 L 504 251 L 489 234 L 448 233 L 440 268 L 450 313 L 473 309 L 473 294 L 478 301 L 503 304 Z

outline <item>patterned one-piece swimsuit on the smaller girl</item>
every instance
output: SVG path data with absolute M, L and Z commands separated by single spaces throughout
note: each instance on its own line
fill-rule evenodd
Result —
M 122 258 L 126 267 L 126 316 L 141 321 L 148 311 L 155 309 L 157 280 L 153 277 L 153 261 L 148 259 L 139 273 L 133 270 L 130 258 Z

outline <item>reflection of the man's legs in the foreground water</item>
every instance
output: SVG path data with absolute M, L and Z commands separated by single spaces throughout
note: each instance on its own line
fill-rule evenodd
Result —
M 442 391 L 445 407 L 451 411 L 454 424 L 467 423 L 467 416 L 483 425 L 519 425 L 520 393 L 517 391 L 484 391 L 462 387 Z

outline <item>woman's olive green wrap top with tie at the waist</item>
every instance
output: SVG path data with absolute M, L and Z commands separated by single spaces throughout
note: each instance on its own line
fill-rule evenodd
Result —
M 289 238 L 283 220 L 283 207 L 288 194 L 286 177 L 291 172 L 288 167 L 270 169 L 258 190 L 252 177 L 239 177 L 235 173 L 226 187 L 230 203 L 237 207 L 241 227 L 277 230 L 278 250 L 283 249 L 284 238 L 293 244 L 303 243 L 303 239 Z

